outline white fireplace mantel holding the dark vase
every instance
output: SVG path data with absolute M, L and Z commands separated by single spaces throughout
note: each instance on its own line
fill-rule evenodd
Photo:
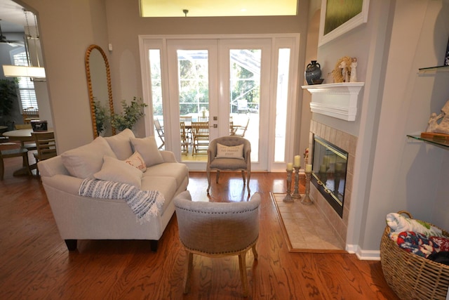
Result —
M 310 110 L 346 121 L 355 121 L 358 94 L 364 82 L 302 86 L 311 93 Z

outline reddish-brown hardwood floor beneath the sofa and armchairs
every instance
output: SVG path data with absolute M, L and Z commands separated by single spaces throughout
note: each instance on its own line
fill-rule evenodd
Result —
M 0 181 L 0 299 L 241 299 L 236 256 L 194 256 L 191 292 L 182 294 L 185 252 L 174 215 L 157 252 L 148 241 L 81 240 L 68 252 L 39 177 L 13 177 L 6 159 Z M 240 174 L 222 174 L 212 201 L 246 200 Z M 354 254 L 290 253 L 269 192 L 283 193 L 285 174 L 253 173 L 262 194 L 259 259 L 248 254 L 248 299 L 398 299 L 380 261 Z M 189 190 L 207 200 L 206 174 L 190 174 Z

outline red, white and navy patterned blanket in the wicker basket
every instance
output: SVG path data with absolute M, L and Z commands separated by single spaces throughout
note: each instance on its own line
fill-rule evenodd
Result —
M 398 240 L 396 240 L 399 247 L 405 249 L 407 252 L 427 257 L 440 251 L 440 247 L 436 242 L 431 240 L 422 233 L 414 233 L 412 231 L 404 231 L 399 233 Z

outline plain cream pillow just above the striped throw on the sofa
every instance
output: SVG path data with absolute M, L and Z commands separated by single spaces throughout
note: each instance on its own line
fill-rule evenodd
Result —
M 105 156 L 105 162 L 100 171 L 93 174 L 93 177 L 119 183 L 128 183 L 140 188 L 142 184 L 142 171 L 127 164 L 123 160 Z

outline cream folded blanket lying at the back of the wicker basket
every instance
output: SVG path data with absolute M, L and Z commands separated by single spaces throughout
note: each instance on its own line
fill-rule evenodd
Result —
M 441 229 L 431 226 L 429 223 L 408 219 L 401 214 L 387 214 L 387 225 L 391 228 L 391 232 L 401 233 L 403 231 L 414 231 L 427 236 L 443 236 Z

